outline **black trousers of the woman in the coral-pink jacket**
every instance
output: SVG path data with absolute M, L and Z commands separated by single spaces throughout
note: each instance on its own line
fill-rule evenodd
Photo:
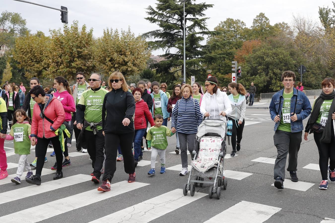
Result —
M 49 142 L 52 142 L 52 145 L 54 147 L 54 151 L 56 154 L 56 161 L 57 161 L 57 171 L 62 170 L 62 162 L 63 162 L 63 151 L 61 149 L 61 142 L 59 141 L 58 135 L 52 138 L 37 138 L 37 144 L 35 147 L 35 154 L 37 157 L 37 163 L 36 163 L 36 175 L 41 176 L 42 168 L 44 165 L 44 157 L 47 153 L 47 148 L 49 145 Z

